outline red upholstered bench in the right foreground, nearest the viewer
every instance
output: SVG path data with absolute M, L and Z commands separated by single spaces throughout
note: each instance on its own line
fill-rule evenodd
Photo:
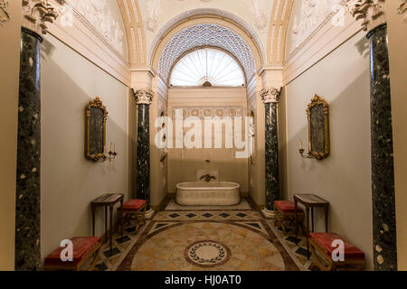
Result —
M 335 240 L 344 241 L 344 261 L 334 261 L 332 253 L 336 247 L 332 247 Z M 364 252 L 348 243 L 335 233 L 309 233 L 309 245 L 314 265 L 322 271 L 335 271 L 336 269 L 364 270 Z

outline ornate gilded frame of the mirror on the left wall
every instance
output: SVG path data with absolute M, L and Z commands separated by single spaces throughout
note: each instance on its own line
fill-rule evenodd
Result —
M 91 137 L 91 132 L 90 132 L 90 121 L 91 121 L 91 108 L 99 108 L 102 110 L 102 117 L 103 117 L 103 122 L 102 122 L 102 142 L 103 142 L 103 152 L 100 152 L 98 154 L 91 154 L 90 152 L 90 137 Z M 99 162 L 99 161 L 105 161 L 107 159 L 106 156 L 106 121 L 108 119 L 108 110 L 106 109 L 105 106 L 103 106 L 102 101 L 100 100 L 99 97 L 95 98 L 95 100 L 90 101 L 88 105 L 86 106 L 86 127 L 85 127 L 85 155 L 86 158 L 94 161 L 94 162 Z

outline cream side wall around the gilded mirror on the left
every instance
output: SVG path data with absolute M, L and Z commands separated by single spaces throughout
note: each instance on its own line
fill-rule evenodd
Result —
M 90 201 L 108 192 L 128 199 L 128 88 L 51 35 L 42 44 L 42 256 L 64 238 L 91 235 Z M 118 156 L 92 163 L 84 156 L 85 107 L 107 106 L 107 144 Z M 133 105 L 133 104 L 132 104 Z M 134 106 L 134 105 L 133 105 Z M 96 235 L 104 233 L 97 211 Z

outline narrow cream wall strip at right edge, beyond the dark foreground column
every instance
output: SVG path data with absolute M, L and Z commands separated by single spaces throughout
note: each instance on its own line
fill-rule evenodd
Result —
M 399 270 L 407 270 L 407 23 L 397 14 L 399 1 L 386 1 L 393 110 L 394 177 Z

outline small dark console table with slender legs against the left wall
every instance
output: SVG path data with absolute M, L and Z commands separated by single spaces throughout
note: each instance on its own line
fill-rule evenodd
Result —
M 105 208 L 105 236 L 108 238 L 108 208 L 110 211 L 110 255 L 112 253 L 112 238 L 113 238 L 113 207 L 120 202 L 120 222 L 121 222 L 121 238 L 123 238 L 123 200 L 122 193 L 107 193 L 99 198 L 91 201 L 92 207 L 92 232 L 95 236 L 95 211 L 97 207 Z

